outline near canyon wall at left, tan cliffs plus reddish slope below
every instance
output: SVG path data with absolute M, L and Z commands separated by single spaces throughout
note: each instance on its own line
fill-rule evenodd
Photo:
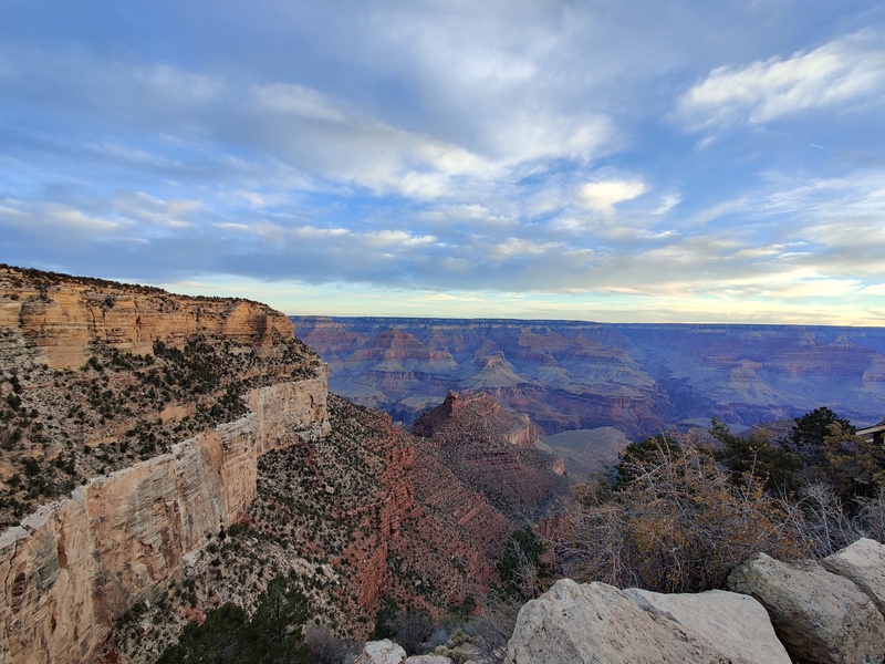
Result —
M 479 595 L 516 526 L 263 304 L 0 266 L 0 662 L 150 662 L 279 574 L 365 637 Z

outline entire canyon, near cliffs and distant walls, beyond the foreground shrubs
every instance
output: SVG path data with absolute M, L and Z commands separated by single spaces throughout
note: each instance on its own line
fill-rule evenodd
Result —
M 881 330 L 289 319 L 0 266 L 0 662 L 154 662 L 280 575 L 355 642 L 476 606 L 625 434 L 875 422 L 883 357 Z

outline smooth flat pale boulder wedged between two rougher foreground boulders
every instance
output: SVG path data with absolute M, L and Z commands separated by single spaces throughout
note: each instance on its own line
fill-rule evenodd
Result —
M 654 615 L 675 620 L 688 633 L 712 639 L 732 664 L 790 664 L 764 606 L 746 594 L 711 590 L 697 594 L 624 591 Z

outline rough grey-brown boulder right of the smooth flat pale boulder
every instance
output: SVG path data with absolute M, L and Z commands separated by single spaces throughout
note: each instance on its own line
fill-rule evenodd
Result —
M 852 581 L 818 562 L 787 563 L 759 553 L 731 572 L 728 587 L 762 603 L 793 658 L 883 661 L 885 619 Z

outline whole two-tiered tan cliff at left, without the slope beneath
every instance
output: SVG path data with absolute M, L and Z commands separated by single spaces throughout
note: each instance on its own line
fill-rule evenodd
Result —
M 262 304 L 2 267 L 0 330 L 0 507 L 43 504 L 0 535 L 0 662 L 87 660 L 262 455 L 329 433 L 324 365 Z

